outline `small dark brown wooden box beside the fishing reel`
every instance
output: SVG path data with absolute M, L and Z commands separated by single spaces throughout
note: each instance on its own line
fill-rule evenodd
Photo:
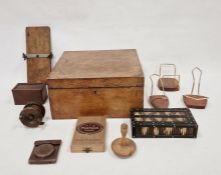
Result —
M 26 105 L 27 103 L 44 104 L 47 99 L 45 84 L 18 83 L 13 89 L 15 105 Z

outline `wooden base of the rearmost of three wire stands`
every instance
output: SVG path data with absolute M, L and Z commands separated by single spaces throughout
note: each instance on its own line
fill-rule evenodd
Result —
M 179 91 L 179 81 L 175 78 L 160 78 L 158 80 L 158 88 L 161 91 Z

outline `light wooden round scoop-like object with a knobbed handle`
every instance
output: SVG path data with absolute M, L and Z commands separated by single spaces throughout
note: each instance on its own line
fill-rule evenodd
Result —
M 136 144 L 133 140 L 126 138 L 127 124 L 121 125 L 122 138 L 115 139 L 112 142 L 111 148 L 113 152 L 120 158 L 128 158 L 136 151 Z

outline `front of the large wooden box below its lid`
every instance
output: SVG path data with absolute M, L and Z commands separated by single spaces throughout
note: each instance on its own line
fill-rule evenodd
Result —
M 53 119 L 107 115 L 129 117 L 131 108 L 143 107 L 143 87 L 49 89 Z

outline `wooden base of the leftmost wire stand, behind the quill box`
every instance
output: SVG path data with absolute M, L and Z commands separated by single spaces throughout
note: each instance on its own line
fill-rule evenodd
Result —
M 149 102 L 154 108 L 168 108 L 169 100 L 165 95 L 151 95 Z

